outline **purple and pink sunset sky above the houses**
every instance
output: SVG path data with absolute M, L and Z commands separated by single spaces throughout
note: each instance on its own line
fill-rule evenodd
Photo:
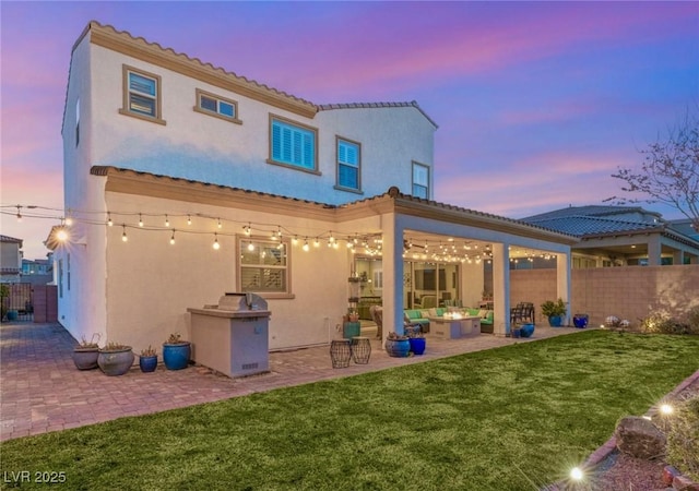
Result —
M 417 100 L 439 124 L 435 199 L 511 218 L 619 194 L 611 175 L 699 100 L 697 2 L 2 1 L 0 16 L 2 205 L 62 207 L 90 20 L 316 104 Z M 45 256 L 57 220 L 1 219 Z

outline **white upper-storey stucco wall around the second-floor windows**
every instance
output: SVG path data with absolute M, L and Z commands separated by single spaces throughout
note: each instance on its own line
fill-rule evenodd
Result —
M 411 192 L 412 161 L 433 165 L 435 128 L 414 107 L 333 109 L 305 118 L 99 46 L 91 46 L 91 55 L 97 165 L 332 204 L 391 185 Z M 165 125 L 118 112 L 125 63 L 162 77 Z M 236 100 L 242 124 L 194 111 L 197 88 Z M 319 175 L 266 163 L 270 113 L 318 129 Z M 334 189 L 336 135 L 362 144 L 364 194 Z

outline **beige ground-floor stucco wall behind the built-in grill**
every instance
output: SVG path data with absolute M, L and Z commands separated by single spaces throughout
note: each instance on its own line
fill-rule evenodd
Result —
M 107 337 L 130 344 L 134 349 L 147 345 L 159 347 L 169 333 L 179 332 L 191 339 L 187 308 L 215 304 L 226 291 L 236 290 L 236 247 L 234 235 L 242 237 L 242 224 L 283 221 L 292 230 L 363 230 L 353 224 L 337 225 L 292 218 L 261 212 L 244 212 L 217 206 L 107 192 L 110 209 L 133 213 L 120 215 L 128 225 L 128 242 L 121 241 L 121 221 L 107 227 Z M 144 216 L 145 227 L 138 227 L 138 213 L 169 213 L 176 243 L 170 246 L 170 231 L 149 230 L 162 226 L 163 215 Z M 192 225 L 178 214 L 191 214 Z M 220 216 L 216 221 L 197 214 Z M 157 221 L 156 221 L 157 220 Z M 237 225 L 232 225 L 232 221 Z M 367 220 L 374 224 L 375 220 Z M 355 226 L 357 223 L 354 224 Z M 366 224 L 365 224 L 366 226 Z M 197 230 L 203 233 L 187 233 Z M 221 249 L 212 248 L 213 232 L 218 233 Z M 260 232 L 253 232 L 259 235 Z M 309 235 L 311 235 L 309 232 Z M 311 235 L 312 237 L 312 235 Z M 272 311 L 270 348 L 328 343 L 347 309 L 347 282 L 352 254 L 345 246 L 322 247 L 305 252 L 303 243 L 291 246 L 291 280 L 293 299 L 268 299 Z

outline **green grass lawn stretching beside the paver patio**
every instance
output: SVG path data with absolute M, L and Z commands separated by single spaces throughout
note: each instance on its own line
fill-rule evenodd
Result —
M 1 465 L 73 490 L 534 490 L 697 352 L 696 336 L 581 332 L 12 440 Z

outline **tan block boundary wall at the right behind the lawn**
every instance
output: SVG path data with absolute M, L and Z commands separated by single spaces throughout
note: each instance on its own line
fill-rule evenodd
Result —
M 556 298 L 555 270 L 510 272 L 511 303 L 534 302 L 537 322 L 541 304 Z M 655 310 L 682 320 L 699 306 L 699 265 L 627 266 L 572 270 L 571 314 L 587 313 L 592 325 L 608 315 L 633 325 Z

